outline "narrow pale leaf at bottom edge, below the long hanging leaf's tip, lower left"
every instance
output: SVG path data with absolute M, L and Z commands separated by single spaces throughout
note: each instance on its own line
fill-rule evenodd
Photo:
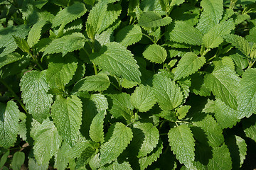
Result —
M 70 145 L 66 142 L 63 142 L 62 146 L 58 150 L 57 154 L 55 155 L 55 163 L 54 168 L 58 170 L 65 170 L 68 166 L 68 157 L 66 157 L 66 153 L 70 149 Z

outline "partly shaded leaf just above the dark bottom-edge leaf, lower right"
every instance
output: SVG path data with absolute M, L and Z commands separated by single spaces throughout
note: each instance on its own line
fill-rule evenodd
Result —
M 219 147 L 224 142 L 224 137 L 222 134 L 223 131 L 211 115 L 206 115 L 203 120 L 193 122 L 193 125 L 201 128 L 203 132 L 205 132 L 210 147 Z M 196 134 L 194 130 L 193 133 Z M 201 141 L 202 143 L 206 142 L 201 140 L 199 135 L 195 135 L 195 138 L 196 136 L 199 137 L 197 140 Z

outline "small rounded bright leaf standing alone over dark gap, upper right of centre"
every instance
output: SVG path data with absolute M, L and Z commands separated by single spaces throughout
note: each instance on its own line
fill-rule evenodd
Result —
M 166 60 L 167 52 L 164 47 L 154 44 L 146 47 L 142 55 L 146 60 L 161 64 Z

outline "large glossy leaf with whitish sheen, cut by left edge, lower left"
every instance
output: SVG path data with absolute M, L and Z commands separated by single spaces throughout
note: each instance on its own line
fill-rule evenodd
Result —
M 14 101 L 0 103 L 0 147 L 9 148 L 16 142 L 18 133 L 18 106 Z

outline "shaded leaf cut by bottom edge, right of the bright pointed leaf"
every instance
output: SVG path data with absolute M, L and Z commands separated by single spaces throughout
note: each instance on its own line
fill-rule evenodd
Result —
M 213 156 L 208 160 L 208 164 L 204 165 L 200 162 L 196 162 L 197 169 L 202 170 L 230 170 L 232 169 L 232 161 L 230 157 L 230 152 L 227 145 L 222 145 L 221 147 L 213 147 Z

